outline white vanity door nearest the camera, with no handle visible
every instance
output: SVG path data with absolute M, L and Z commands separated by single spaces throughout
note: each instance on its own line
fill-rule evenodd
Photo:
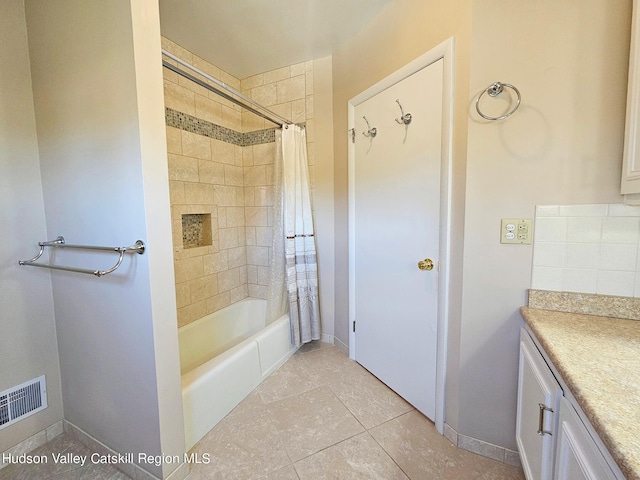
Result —
M 563 398 L 560 405 L 555 480 L 615 480 L 582 420 Z

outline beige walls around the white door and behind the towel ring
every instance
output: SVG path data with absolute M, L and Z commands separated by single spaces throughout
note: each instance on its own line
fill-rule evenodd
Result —
M 533 218 L 536 204 L 621 201 L 630 8 L 630 0 L 394 0 L 333 55 L 335 332 L 346 343 L 347 102 L 455 36 L 445 421 L 463 435 L 515 450 L 518 307 L 531 247 L 501 245 L 500 219 Z M 486 122 L 473 102 L 495 81 L 515 84 L 523 102 L 513 117 Z

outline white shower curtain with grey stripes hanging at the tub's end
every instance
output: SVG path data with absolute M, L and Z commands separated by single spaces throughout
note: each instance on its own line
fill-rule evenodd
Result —
M 267 319 L 275 320 L 288 306 L 291 343 L 299 346 L 320 339 L 318 263 L 304 129 L 285 125 L 276 131 L 276 151 Z

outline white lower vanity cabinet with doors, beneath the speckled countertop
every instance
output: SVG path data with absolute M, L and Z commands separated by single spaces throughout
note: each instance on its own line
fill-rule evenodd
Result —
M 520 333 L 516 441 L 527 480 L 623 480 L 610 467 L 526 329 Z M 564 390 L 564 391 L 563 391 Z M 605 455 L 609 460 L 605 459 Z

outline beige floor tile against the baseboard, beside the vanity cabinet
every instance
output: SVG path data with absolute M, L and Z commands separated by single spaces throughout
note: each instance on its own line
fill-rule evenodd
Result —
M 416 410 L 370 433 L 412 480 L 477 480 L 498 464 L 455 447 Z

